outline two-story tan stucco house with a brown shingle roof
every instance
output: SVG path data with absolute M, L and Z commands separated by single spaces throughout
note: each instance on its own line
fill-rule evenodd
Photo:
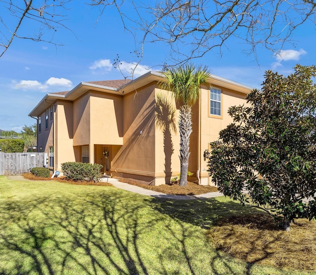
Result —
M 151 185 L 178 176 L 179 133 L 163 133 L 155 120 L 156 96 L 171 93 L 159 88 L 162 79 L 149 72 L 133 81 L 81 82 L 71 91 L 46 94 L 29 116 L 38 119 L 38 148 L 47 153 L 48 168 L 61 171 L 66 161 L 99 163 L 107 175 Z M 251 89 L 214 75 L 201 86 L 192 109 L 191 180 L 211 184 L 203 153 L 232 122 L 228 108 L 245 103 Z

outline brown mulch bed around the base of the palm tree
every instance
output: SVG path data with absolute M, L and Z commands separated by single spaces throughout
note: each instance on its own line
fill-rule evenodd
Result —
M 187 186 L 179 186 L 178 183 L 174 184 L 163 184 L 159 186 L 152 186 L 152 185 L 145 185 L 141 183 L 135 183 L 131 181 L 124 181 L 128 184 L 136 185 L 145 189 L 161 192 L 164 194 L 171 194 L 171 195 L 187 195 L 187 196 L 193 196 L 193 195 L 200 195 L 205 194 L 209 192 L 218 192 L 218 189 L 215 186 L 203 186 L 198 185 L 193 182 L 188 182 Z

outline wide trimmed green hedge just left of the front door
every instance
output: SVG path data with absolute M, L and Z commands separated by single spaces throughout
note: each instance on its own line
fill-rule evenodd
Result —
M 91 164 L 82 162 L 65 162 L 61 164 L 61 169 L 67 180 L 73 181 L 94 181 L 101 178 L 101 164 Z

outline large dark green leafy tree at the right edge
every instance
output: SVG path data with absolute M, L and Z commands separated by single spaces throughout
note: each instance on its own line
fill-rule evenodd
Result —
M 261 90 L 211 143 L 209 175 L 225 196 L 254 204 L 290 229 L 316 216 L 316 66 L 296 65 L 284 77 L 266 72 Z

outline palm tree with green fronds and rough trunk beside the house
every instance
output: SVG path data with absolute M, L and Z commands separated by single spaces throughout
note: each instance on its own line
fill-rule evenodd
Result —
M 175 100 L 181 104 L 179 117 L 180 132 L 180 186 L 188 184 L 188 166 L 190 156 L 190 135 L 192 133 L 191 107 L 199 97 L 200 85 L 207 82 L 210 72 L 207 67 L 183 65 L 168 68 L 163 72 L 161 88 L 172 91 Z

